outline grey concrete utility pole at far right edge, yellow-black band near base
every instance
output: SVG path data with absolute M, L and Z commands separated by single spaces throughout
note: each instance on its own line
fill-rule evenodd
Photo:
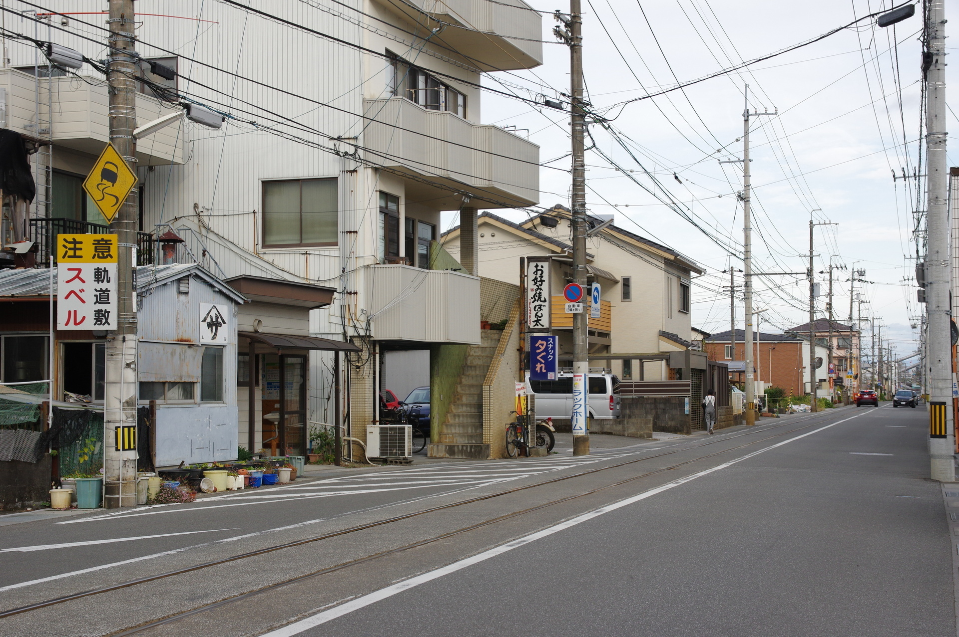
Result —
M 946 7 L 944 0 L 926 5 L 925 154 L 926 214 L 925 312 L 929 371 L 929 459 L 933 480 L 955 481 L 955 432 L 952 414 L 952 351 L 949 322 L 950 255 L 946 163 Z M 937 425 L 941 421 L 942 425 Z

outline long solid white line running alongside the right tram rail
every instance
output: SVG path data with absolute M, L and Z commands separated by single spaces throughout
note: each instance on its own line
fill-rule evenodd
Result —
M 432 580 L 438 580 L 439 578 L 442 578 L 446 575 L 450 575 L 451 573 L 456 573 L 456 571 L 460 571 L 468 566 L 472 566 L 473 564 L 478 564 L 481 561 L 485 561 L 491 557 L 502 555 L 503 553 L 512 551 L 513 549 L 519 548 L 521 546 L 529 544 L 530 542 L 534 542 L 538 539 L 542 539 L 543 537 L 547 537 L 549 535 L 559 533 L 560 531 L 564 531 L 578 524 L 582 524 L 583 522 L 591 520 L 594 517 L 598 517 L 599 515 L 603 515 L 605 513 L 613 512 L 623 507 L 629 506 L 635 502 L 639 502 L 640 500 L 644 500 L 648 497 L 656 495 L 657 493 L 662 493 L 663 491 L 667 491 L 668 489 L 674 489 L 676 487 L 679 487 L 680 485 L 685 485 L 686 483 L 691 482 L 692 480 L 696 480 L 697 478 L 701 478 L 703 476 L 709 475 L 720 469 L 724 469 L 728 466 L 736 465 L 737 463 L 741 463 L 744 460 L 753 458 L 754 456 L 758 456 L 760 455 L 760 453 L 765 453 L 766 451 L 783 446 L 784 444 L 789 444 L 794 441 L 800 440 L 802 438 L 806 438 L 807 436 L 811 436 L 812 434 L 823 431 L 824 429 L 829 429 L 830 427 L 834 427 L 835 425 L 841 422 L 852 421 L 854 418 L 858 418 L 858 415 L 844 419 L 842 421 L 832 422 L 831 424 L 827 424 L 826 426 L 820 427 L 818 429 L 813 429 L 812 431 L 796 436 L 795 438 L 790 438 L 788 440 L 784 440 L 781 443 L 772 444 L 770 446 L 764 447 L 757 451 L 753 451 L 752 453 L 748 453 L 745 456 L 742 456 L 741 458 L 737 458 L 736 460 L 731 460 L 728 463 L 723 463 L 722 465 L 713 466 L 712 468 L 708 468 L 703 471 L 699 471 L 698 473 L 693 473 L 692 475 L 687 476 L 685 478 L 680 478 L 679 480 L 670 482 L 666 485 L 663 485 L 662 487 L 649 489 L 649 490 L 643 491 L 642 493 L 638 495 L 634 495 L 632 497 L 628 497 L 623 500 L 620 500 L 619 502 L 614 502 L 613 504 L 606 505 L 605 507 L 601 507 L 594 511 L 583 513 L 582 515 L 573 517 L 573 519 L 567 520 L 565 522 L 561 522 L 559 524 L 551 526 L 542 531 L 538 531 L 534 534 L 520 537 L 519 539 L 515 539 L 501 546 L 494 547 L 492 549 L 489 549 L 488 551 L 483 551 L 482 553 L 478 555 L 460 559 L 459 561 L 453 562 L 452 564 L 443 566 L 441 568 L 437 568 L 433 571 L 430 571 L 429 573 L 424 573 L 423 575 L 418 575 L 416 577 L 410 578 L 409 580 L 403 580 L 399 583 L 386 586 L 385 588 L 381 588 L 378 591 L 374 591 L 367 595 L 363 595 L 363 597 L 359 597 L 350 602 L 343 603 L 334 608 L 330 608 L 329 610 L 324 610 L 323 612 L 317 613 L 313 617 L 308 617 L 306 619 L 300 620 L 299 622 L 295 622 L 291 624 L 290 626 L 284 626 L 282 628 L 278 628 L 277 630 L 272 630 L 268 633 L 264 633 L 263 635 L 261 635 L 261 637 L 292 637 L 292 635 L 298 635 L 304 630 L 309 630 L 310 628 L 313 628 L 315 626 L 326 624 L 327 622 L 337 619 L 338 617 L 342 617 L 343 615 L 348 615 L 349 613 L 352 613 L 355 610 L 359 610 L 372 603 L 377 603 L 381 600 L 385 600 L 386 598 L 392 597 L 396 595 L 397 593 L 401 593 L 410 588 L 419 586 L 420 584 L 425 584 L 428 581 L 432 581 Z

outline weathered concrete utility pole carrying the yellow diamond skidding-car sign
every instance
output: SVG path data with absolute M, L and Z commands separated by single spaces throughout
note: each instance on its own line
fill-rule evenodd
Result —
M 133 0 L 109 0 L 110 143 L 136 173 L 136 57 Z M 120 426 L 136 426 L 136 267 L 137 190 L 110 223 L 117 235 L 117 330 L 106 339 L 104 503 L 108 509 L 136 506 L 136 451 L 116 450 Z

